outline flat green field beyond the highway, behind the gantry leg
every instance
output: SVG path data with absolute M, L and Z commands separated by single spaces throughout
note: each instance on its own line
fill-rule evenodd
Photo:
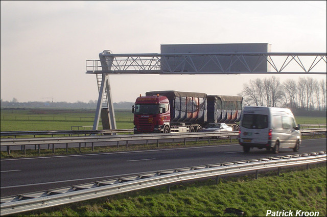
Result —
M 94 110 L 1 110 L 1 131 L 77 130 L 76 126 L 93 126 Z M 118 129 L 133 128 L 130 111 L 115 111 Z M 326 117 L 296 117 L 297 124 L 326 124 Z M 101 126 L 101 120 L 99 126 Z M 74 127 L 75 126 L 75 127 Z M 80 127 L 80 130 L 91 127 Z M 102 129 L 99 127 L 99 129 Z

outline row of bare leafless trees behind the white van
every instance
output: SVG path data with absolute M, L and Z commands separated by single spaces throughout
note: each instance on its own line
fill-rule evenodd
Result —
M 244 106 L 270 106 L 305 109 L 307 111 L 326 111 L 326 80 L 311 77 L 297 81 L 278 78 L 257 78 L 243 84 L 239 93 Z

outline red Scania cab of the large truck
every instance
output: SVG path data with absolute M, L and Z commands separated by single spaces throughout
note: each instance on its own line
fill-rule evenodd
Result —
M 169 100 L 164 95 L 144 97 L 140 95 L 135 101 L 132 112 L 134 113 L 134 134 L 164 132 L 165 125 L 170 123 Z

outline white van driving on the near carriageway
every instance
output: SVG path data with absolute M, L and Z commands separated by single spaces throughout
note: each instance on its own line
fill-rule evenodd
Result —
M 265 148 L 277 154 L 279 148 L 297 152 L 301 143 L 300 126 L 290 109 L 276 107 L 244 107 L 239 142 L 244 152 Z

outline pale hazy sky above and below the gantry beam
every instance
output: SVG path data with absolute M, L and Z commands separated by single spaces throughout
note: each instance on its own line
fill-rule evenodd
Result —
M 271 52 L 326 52 L 326 1 L 1 1 L 1 99 L 98 99 L 86 60 L 160 53 L 160 44 L 269 43 Z M 324 66 L 325 67 L 325 66 Z M 326 71 L 324 69 L 324 71 Z M 272 75 L 110 75 L 113 102 L 153 90 L 237 95 Z M 274 75 L 286 79 L 326 75 Z

